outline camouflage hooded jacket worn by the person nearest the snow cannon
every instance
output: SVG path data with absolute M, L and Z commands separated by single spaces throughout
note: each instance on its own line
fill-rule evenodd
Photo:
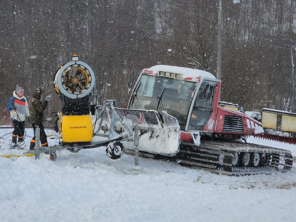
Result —
M 40 101 L 43 90 L 36 88 L 33 96 L 29 100 L 29 112 L 32 123 L 39 124 L 43 122 L 43 111 L 46 109 L 48 102 Z

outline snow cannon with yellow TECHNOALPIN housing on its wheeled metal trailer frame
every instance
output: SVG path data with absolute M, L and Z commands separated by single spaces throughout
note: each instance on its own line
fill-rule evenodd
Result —
M 130 129 L 118 117 L 116 110 L 110 121 L 114 125 L 118 121 L 121 127 L 127 132 L 125 135 L 114 134 L 113 125 L 111 125 L 108 139 L 93 142 L 92 116 L 90 112 L 89 95 L 95 86 L 95 76 L 92 69 L 84 62 L 79 61 L 77 54 L 73 54 L 72 61 L 61 66 L 56 72 L 53 81 L 55 92 L 62 101 L 62 108 L 56 113 L 54 129 L 60 135 L 61 142 L 58 145 L 50 147 L 40 147 L 39 132 L 36 131 L 36 146 L 34 150 L 29 150 L 24 154 L 33 153 L 35 158 L 44 152 L 50 154 L 51 160 L 56 160 L 57 150 L 67 149 L 70 152 L 78 152 L 81 149 L 91 149 L 100 146 L 107 146 L 106 153 L 112 159 L 118 159 L 122 156 L 124 147 L 122 140 L 133 141 Z M 101 113 L 105 113 L 107 105 L 113 107 L 115 100 L 104 101 L 104 108 Z M 100 113 L 99 113 L 100 114 Z M 118 125 L 118 124 L 117 124 Z

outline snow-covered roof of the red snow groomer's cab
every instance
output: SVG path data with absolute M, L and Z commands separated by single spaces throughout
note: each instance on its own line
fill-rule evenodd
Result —
M 179 79 L 188 80 L 192 82 L 199 82 L 201 77 L 217 80 L 215 76 L 211 73 L 192 68 L 178 67 L 178 66 L 168 66 L 168 65 L 156 65 L 150 68 L 142 70 L 142 73 L 159 75 L 159 72 L 170 72 L 175 74 L 181 74 Z M 175 78 L 178 79 L 178 78 Z

